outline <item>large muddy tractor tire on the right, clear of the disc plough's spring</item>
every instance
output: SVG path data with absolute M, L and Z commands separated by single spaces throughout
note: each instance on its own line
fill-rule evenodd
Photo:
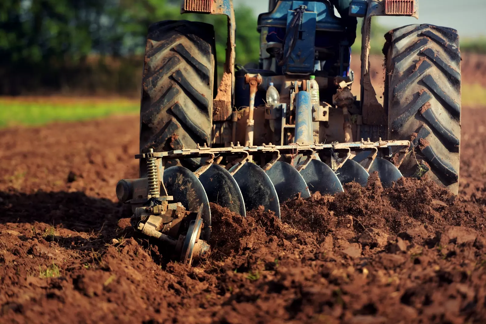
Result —
M 388 137 L 413 139 L 404 176 L 458 192 L 461 138 L 461 54 L 451 28 L 409 25 L 385 35 Z

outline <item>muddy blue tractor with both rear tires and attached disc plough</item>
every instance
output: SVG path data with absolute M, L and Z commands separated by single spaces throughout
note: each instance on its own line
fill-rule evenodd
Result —
M 116 188 L 132 206 L 136 228 L 191 265 L 210 251 L 209 203 L 242 217 L 263 206 L 280 217 L 279 204 L 288 199 L 342 192 L 350 182 L 365 186 L 373 172 L 384 187 L 402 176 L 427 176 L 457 194 L 457 32 L 429 24 L 388 32 L 381 103 L 370 78 L 371 19 L 418 18 L 418 2 L 348 2 L 338 17 L 330 0 L 270 0 L 255 26 L 259 62 L 235 68 L 232 2 L 183 0 L 182 13 L 227 17 L 219 85 L 212 25 L 150 26 L 135 156 L 140 178 Z M 363 19 L 359 101 L 350 70 L 357 18 Z

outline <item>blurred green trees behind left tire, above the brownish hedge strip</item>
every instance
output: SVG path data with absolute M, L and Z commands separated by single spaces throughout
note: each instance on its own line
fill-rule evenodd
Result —
M 178 0 L 0 0 L 0 94 L 30 92 L 43 86 L 61 88 L 66 78 L 81 77 L 74 69 L 86 70 L 89 55 L 102 57 L 102 63 L 103 57 L 141 56 L 148 26 L 168 19 L 213 24 L 221 67 L 225 61 L 226 17 L 182 16 L 179 3 Z M 255 15 L 250 8 L 239 7 L 236 21 L 237 62 L 258 62 Z M 107 68 L 93 68 L 103 69 Z

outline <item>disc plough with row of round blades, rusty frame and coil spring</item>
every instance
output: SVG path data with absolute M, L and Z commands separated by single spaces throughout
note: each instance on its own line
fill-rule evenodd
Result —
M 137 154 L 147 164 L 147 177 L 124 179 L 117 196 L 132 205 L 132 224 L 142 233 L 172 246 L 185 264 L 208 255 L 211 235 L 209 203 L 246 216 L 263 206 L 280 218 L 280 205 L 312 192 L 335 194 L 343 185 L 366 185 L 369 174 L 378 172 L 383 186 L 402 175 L 398 170 L 409 141 L 369 140 L 311 145 L 262 145 L 226 148 L 200 147 L 169 152 Z M 191 172 L 170 161 L 204 158 Z M 226 161 L 226 165 L 216 162 Z M 398 161 L 392 163 L 393 161 Z M 173 203 L 171 203 L 173 202 Z

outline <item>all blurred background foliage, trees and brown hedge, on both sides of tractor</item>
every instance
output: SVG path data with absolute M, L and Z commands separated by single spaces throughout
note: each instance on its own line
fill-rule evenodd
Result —
M 226 17 L 179 12 L 180 0 L 1 0 L 0 95 L 137 96 L 147 28 L 165 19 L 213 24 L 222 66 Z M 244 6 L 235 8 L 235 15 L 237 63 L 258 62 L 256 16 Z M 375 24 L 372 30 L 372 52 L 380 53 L 386 29 Z M 357 39 L 355 54 L 360 44 Z M 485 44 L 485 39 L 466 40 L 462 50 L 486 52 Z

